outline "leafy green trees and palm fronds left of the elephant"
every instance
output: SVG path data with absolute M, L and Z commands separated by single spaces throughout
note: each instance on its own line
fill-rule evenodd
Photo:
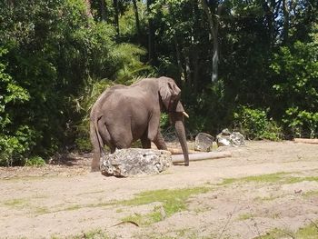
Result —
M 84 1 L 1 2 L 0 21 L 1 165 L 74 149 L 74 142 L 88 151 L 99 79 L 127 84 L 150 69 L 139 60 L 144 50 L 117 45 L 114 27 L 88 17 Z

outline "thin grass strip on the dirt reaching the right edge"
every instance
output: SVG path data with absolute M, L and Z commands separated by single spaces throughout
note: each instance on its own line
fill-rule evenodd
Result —
M 283 184 L 296 184 L 303 181 L 314 181 L 318 182 L 318 176 L 307 176 L 307 177 L 295 177 L 295 176 L 286 176 L 290 173 L 275 173 L 275 174 L 262 174 L 256 176 L 247 176 L 242 178 L 225 178 L 221 184 L 218 185 L 227 185 L 234 183 L 256 183 L 256 184 L 271 184 L 271 183 L 283 183 Z

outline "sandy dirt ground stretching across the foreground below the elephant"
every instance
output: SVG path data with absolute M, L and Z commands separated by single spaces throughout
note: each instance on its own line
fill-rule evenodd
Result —
M 247 142 L 226 150 L 231 158 L 133 178 L 89 173 L 88 157 L 41 168 L 0 168 L 0 238 L 86 238 L 86 232 L 102 230 L 110 238 L 245 239 L 275 228 L 285 232 L 283 238 L 294 238 L 299 228 L 318 222 L 317 144 Z M 208 190 L 152 224 L 119 223 L 154 212 L 160 206 L 155 199 L 111 204 L 144 191 L 192 187 Z

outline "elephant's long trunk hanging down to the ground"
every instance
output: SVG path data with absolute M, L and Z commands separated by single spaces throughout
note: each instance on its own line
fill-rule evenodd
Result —
M 174 127 L 176 134 L 178 135 L 179 142 L 181 144 L 181 148 L 184 153 L 184 165 L 189 165 L 189 152 L 188 152 L 188 144 L 186 144 L 186 136 L 184 129 L 184 115 L 179 112 L 173 113 Z

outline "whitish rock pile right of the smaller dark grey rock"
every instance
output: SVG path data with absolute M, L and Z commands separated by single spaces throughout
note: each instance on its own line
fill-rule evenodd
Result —
M 216 136 L 218 146 L 243 146 L 245 144 L 244 136 L 240 132 L 231 133 L 228 129 L 224 129 Z

